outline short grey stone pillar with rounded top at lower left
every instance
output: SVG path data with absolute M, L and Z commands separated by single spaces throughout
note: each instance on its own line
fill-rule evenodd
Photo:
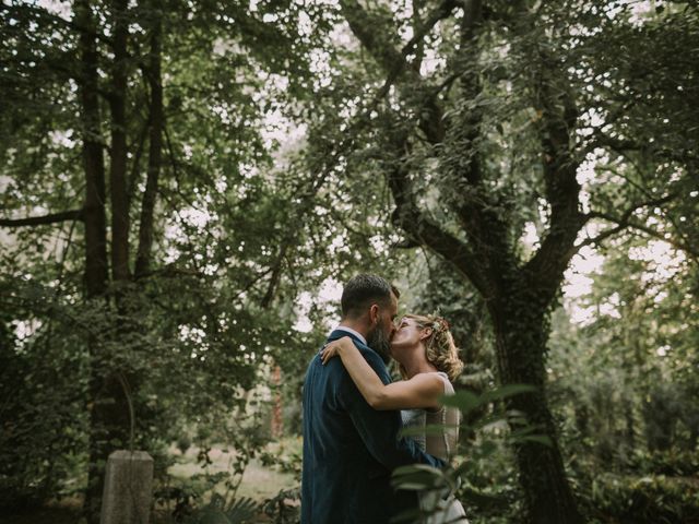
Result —
M 145 451 L 115 451 L 105 473 L 99 524 L 147 524 L 153 458 Z

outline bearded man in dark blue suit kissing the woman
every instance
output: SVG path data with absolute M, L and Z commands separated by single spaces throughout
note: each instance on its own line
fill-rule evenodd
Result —
M 357 275 L 342 294 L 342 321 L 328 342 L 350 335 L 383 383 L 395 331 L 399 293 L 375 275 Z M 311 360 L 304 383 L 301 524 L 382 524 L 417 508 L 411 491 L 390 486 L 394 468 L 442 466 L 413 440 L 399 439 L 400 412 L 378 412 L 364 400 L 341 359 Z

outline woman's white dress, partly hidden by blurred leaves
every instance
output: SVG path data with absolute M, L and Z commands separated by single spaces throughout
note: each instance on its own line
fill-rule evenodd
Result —
M 449 381 L 447 373 L 436 371 L 436 374 L 442 379 L 445 383 L 445 394 L 453 395 L 454 388 Z M 404 427 L 424 428 L 426 425 L 443 425 L 451 426 L 446 428 L 443 432 L 435 434 L 416 434 L 413 439 L 418 445 L 433 456 L 437 456 L 449 462 L 455 452 L 459 441 L 459 417 L 460 412 L 455 407 L 442 406 L 441 409 L 429 412 L 427 409 L 403 409 L 401 412 Z M 442 498 L 442 493 L 436 491 L 427 491 L 419 493 L 420 509 L 426 512 L 433 512 L 425 524 L 467 524 L 465 512 L 461 502 L 453 496 L 447 499 Z

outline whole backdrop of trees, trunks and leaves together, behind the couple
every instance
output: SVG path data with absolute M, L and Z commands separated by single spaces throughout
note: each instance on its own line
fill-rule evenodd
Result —
M 257 449 L 250 391 L 279 367 L 299 402 L 359 271 L 450 319 L 462 389 L 533 385 L 503 405 L 545 439 L 465 473 L 517 472 L 493 493 L 528 522 L 603 520 L 595 472 L 696 451 L 691 2 L 0 9 L 0 502 L 79 469 L 96 522 L 111 450 Z

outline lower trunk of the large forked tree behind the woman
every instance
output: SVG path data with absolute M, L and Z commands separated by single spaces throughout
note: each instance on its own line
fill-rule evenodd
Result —
M 519 296 L 518 296 L 519 295 Z M 498 371 L 502 384 L 531 384 L 535 392 L 508 401 L 508 408 L 521 412 L 536 434 L 548 437 L 550 445 L 519 442 L 514 446 L 520 484 L 531 524 L 580 524 L 572 491 L 558 448 L 556 427 L 548 409 L 545 388 L 547 314 L 536 290 L 511 291 L 490 305 L 496 336 Z M 514 428 L 513 428 L 514 429 Z

